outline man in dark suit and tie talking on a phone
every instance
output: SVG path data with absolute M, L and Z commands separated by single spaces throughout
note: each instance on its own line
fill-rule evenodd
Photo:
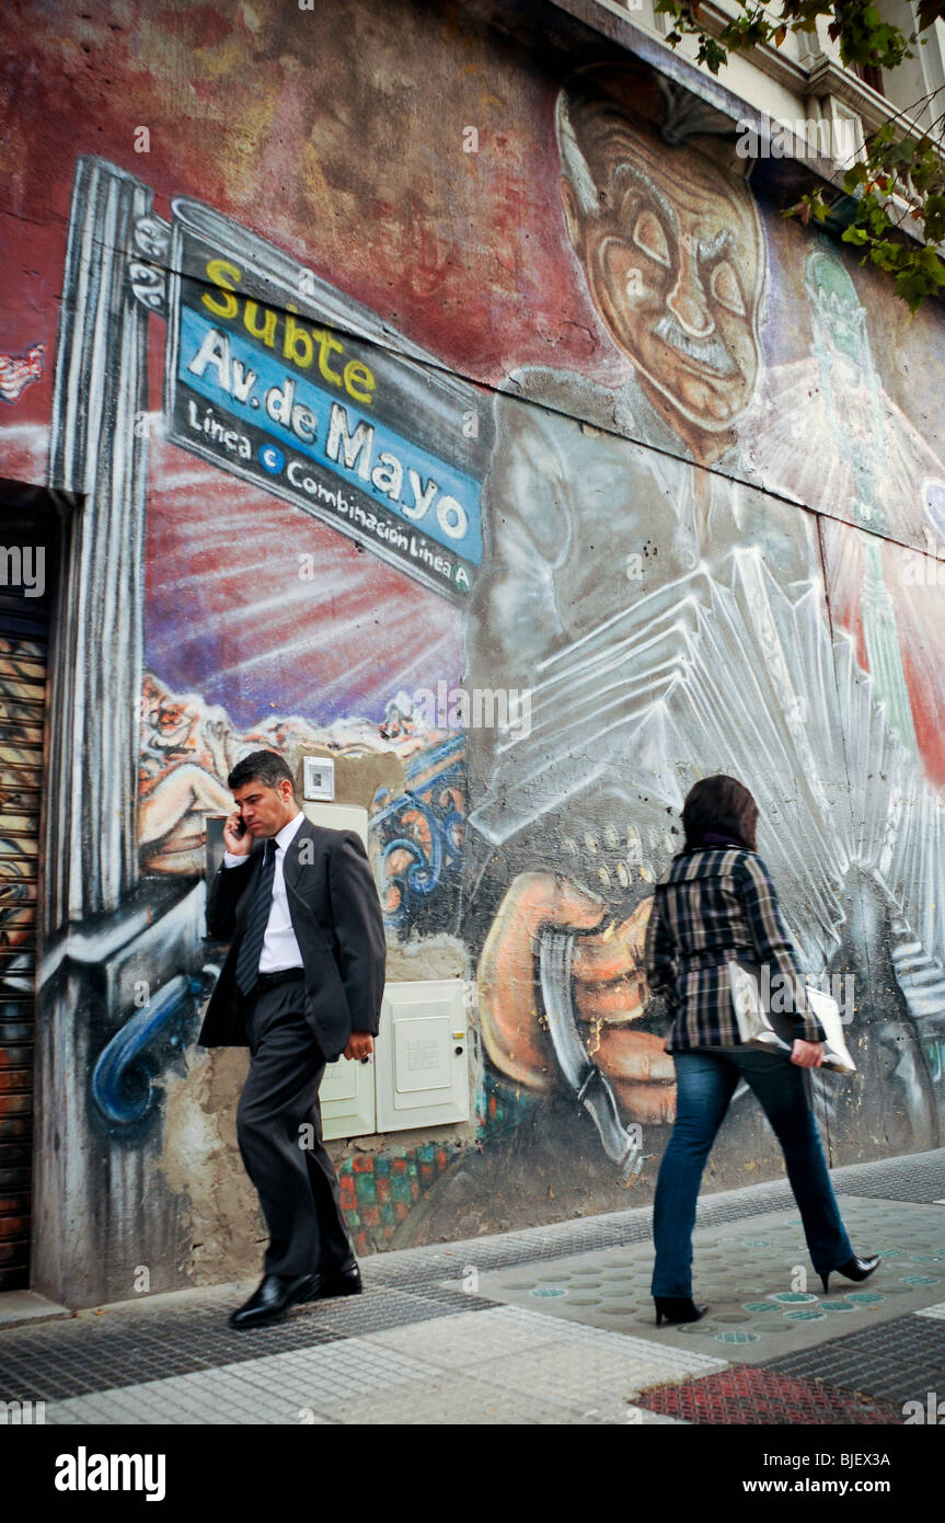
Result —
M 227 787 L 236 810 L 207 929 L 230 950 L 198 1042 L 250 1048 L 236 1129 L 269 1228 L 263 1279 L 230 1317 L 250 1328 L 301 1301 L 361 1292 L 318 1086 L 327 1062 L 373 1051 L 385 941 L 359 836 L 306 819 L 280 755 L 243 757 Z

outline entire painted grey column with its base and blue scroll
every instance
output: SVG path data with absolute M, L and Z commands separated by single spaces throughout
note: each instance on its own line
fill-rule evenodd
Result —
M 52 652 L 32 1284 L 73 1307 L 158 1288 L 183 1238 L 155 1168 L 152 1077 L 158 1039 L 193 1016 L 202 883 L 145 902 L 137 842 L 146 343 L 166 248 L 151 203 L 79 158 L 56 344 L 49 483 L 73 510 Z

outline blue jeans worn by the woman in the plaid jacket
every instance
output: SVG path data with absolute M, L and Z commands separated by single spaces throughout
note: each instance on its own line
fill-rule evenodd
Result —
M 781 1052 L 674 1052 L 676 1125 L 659 1165 L 653 1200 L 651 1295 L 692 1295 L 692 1228 L 702 1171 L 740 1078 L 761 1103 L 781 1142 L 803 1235 L 819 1275 L 854 1256 L 840 1220 L 803 1069 Z

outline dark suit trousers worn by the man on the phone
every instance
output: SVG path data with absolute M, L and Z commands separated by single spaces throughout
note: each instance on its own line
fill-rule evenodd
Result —
M 242 998 L 242 996 L 239 996 Z M 326 1060 L 304 1017 L 304 982 L 243 1002 L 250 1074 L 236 1110 L 243 1165 L 266 1218 L 266 1275 L 336 1273 L 355 1263 L 338 1176 L 321 1139 Z

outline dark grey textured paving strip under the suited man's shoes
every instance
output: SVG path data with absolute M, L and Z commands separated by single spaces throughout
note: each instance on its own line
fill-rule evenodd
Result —
M 0 1336 L 0 1400 L 55 1401 L 447 1317 L 457 1305 L 493 1308 L 492 1301 L 458 1292 L 425 1296 L 370 1287 L 361 1296 L 292 1308 L 283 1322 L 240 1333 L 227 1323 L 240 1299 L 234 1295 L 184 1311 L 135 1304 L 94 1320 L 12 1328 Z

